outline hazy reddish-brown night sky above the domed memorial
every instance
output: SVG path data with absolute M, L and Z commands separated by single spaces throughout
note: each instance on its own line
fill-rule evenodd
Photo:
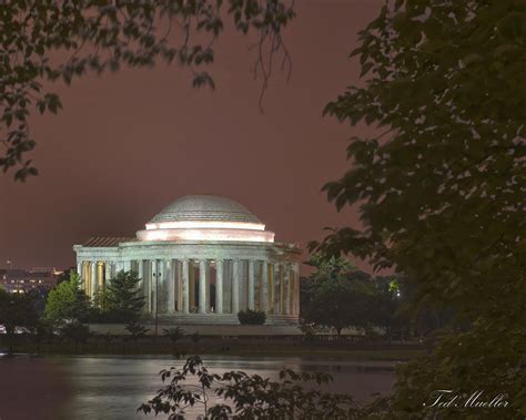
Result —
M 356 225 L 321 186 L 340 177 L 357 129 L 322 117 L 324 105 L 358 83 L 348 60 L 356 32 L 381 0 L 301 0 L 285 32 L 289 84 L 275 72 L 257 109 L 249 40 L 216 44 L 216 91 L 196 91 L 178 66 L 123 70 L 55 85 L 64 110 L 36 117 L 40 176 L 0 174 L 0 268 L 68 267 L 73 244 L 131 235 L 178 196 L 215 194 L 249 207 L 280 242 L 302 246 L 324 226 Z M 363 266 L 363 265 L 362 265 Z

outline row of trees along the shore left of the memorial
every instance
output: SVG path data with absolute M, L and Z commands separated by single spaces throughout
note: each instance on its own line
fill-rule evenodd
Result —
M 37 341 L 54 336 L 75 344 L 85 342 L 91 332 L 85 324 L 125 324 L 132 338 L 142 337 L 148 329 L 141 324 L 144 298 L 140 296 L 134 272 L 119 272 L 104 290 L 90 299 L 80 284 L 80 276 L 71 269 L 53 287 L 44 305 L 34 291 L 10 294 L 0 289 L 0 325 L 6 328 L 8 351 L 13 352 L 14 336 L 31 334 Z

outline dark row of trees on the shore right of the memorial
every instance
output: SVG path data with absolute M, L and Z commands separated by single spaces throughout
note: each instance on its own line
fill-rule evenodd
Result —
M 451 318 L 447 310 L 409 310 L 412 290 L 399 276 L 372 276 L 347 259 L 313 255 L 314 267 L 301 281 L 301 321 L 306 335 L 346 328 L 388 340 L 428 336 Z

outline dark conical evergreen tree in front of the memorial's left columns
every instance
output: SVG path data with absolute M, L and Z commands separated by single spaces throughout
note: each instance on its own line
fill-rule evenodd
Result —
M 141 279 L 135 272 L 120 270 L 107 286 L 105 298 L 111 319 L 117 322 L 129 322 L 139 319 L 144 296 L 141 296 L 139 283 Z

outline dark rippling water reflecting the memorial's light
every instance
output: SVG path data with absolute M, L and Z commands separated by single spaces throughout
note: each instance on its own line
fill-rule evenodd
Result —
M 203 360 L 213 372 L 243 370 L 272 379 L 284 367 L 326 371 L 334 377 L 327 391 L 351 393 L 357 401 L 375 392 L 386 395 L 394 383 L 387 362 L 227 356 L 203 356 Z M 0 357 L 0 420 L 154 419 L 135 410 L 161 387 L 159 371 L 183 361 L 162 356 Z M 195 419 L 201 411 L 186 412 Z

